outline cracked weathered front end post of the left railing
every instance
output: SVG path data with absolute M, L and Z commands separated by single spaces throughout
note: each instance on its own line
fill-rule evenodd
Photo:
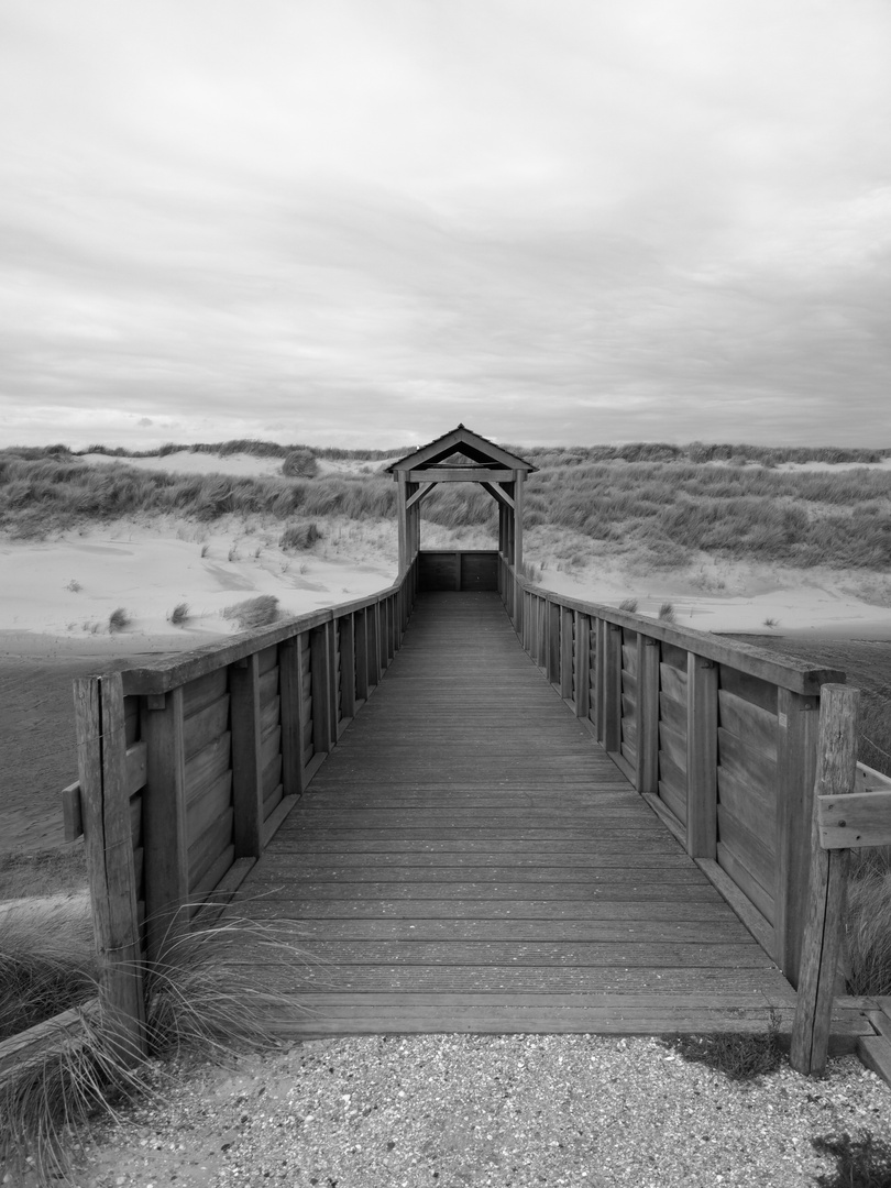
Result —
M 74 682 L 77 769 L 102 1020 L 120 1060 L 145 1054 L 145 997 L 119 672 Z

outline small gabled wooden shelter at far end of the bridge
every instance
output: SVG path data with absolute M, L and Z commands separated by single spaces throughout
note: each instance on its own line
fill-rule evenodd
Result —
M 428 589 L 497 589 L 498 557 L 491 554 L 421 554 L 421 504 L 438 482 L 478 482 L 498 504 L 498 556 L 514 573 L 523 562 L 523 488 L 536 467 L 457 425 L 442 437 L 387 467 L 399 485 L 399 575 L 418 557 L 418 576 Z M 418 556 L 419 555 L 419 556 Z M 516 599 L 519 599 L 517 590 Z M 519 607 L 514 607 L 514 614 Z

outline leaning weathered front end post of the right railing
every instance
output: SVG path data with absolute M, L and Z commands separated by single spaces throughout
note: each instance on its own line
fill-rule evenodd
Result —
M 792 1026 L 790 1062 L 798 1073 L 826 1070 L 832 1028 L 833 990 L 841 948 L 849 849 L 823 849 L 817 827 L 817 797 L 854 790 L 857 718 L 860 694 L 843 684 L 824 684 L 820 697 L 820 745 L 811 803 L 810 887 Z

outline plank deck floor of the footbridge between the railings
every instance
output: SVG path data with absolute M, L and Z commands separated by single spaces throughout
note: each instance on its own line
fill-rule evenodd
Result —
M 305 1035 L 748 1030 L 795 1003 L 495 594 L 419 596 L 239 911 L 299 922 Z

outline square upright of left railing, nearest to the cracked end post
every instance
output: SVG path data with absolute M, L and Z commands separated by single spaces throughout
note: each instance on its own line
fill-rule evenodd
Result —
M 143 790 L 146 956 L 156 961 L 165 943 L 189 927 L 182 687 L 157 699 L 141 697 L 140 726 L 146 744 Z

